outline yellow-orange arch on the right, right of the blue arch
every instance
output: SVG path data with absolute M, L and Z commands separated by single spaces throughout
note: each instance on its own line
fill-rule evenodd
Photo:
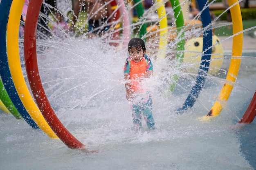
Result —
M 231 18 L 233 22 L 233 46 L 232 46 L 232 55 L 231 55 L 231 61 L 229 64 L 229 71 L 227 73 L 225 84 L 223 85 L 219 97 L 215 104 L 212 106 L 209 113 L 202 117 L 203 119 L 209 119 L 212 116 L 217 116 L 220 114 L 221 110 L 223 109 L 222 105 L 225 105 L 227 100 L 229 99 L 229 96 L 232 92 L 232 89 L 234 87 L 234 82 L 236 81 L 238 71 L 240 68 L 240 62 L 241 58 L 237 58 L 237 56 L 242 55 L 242 49 L 243 49 L 243 33 L 239 33 L 240 31 L 243 31 L 243 22 L 242 22 L 242 15 L 240 6 L 238 3 L 238 0 L 228 0 Z M 236 34 L 239 33 L 239 34 Z

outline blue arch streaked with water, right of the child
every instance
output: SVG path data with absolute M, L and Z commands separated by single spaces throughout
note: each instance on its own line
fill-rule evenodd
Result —
M 186 98 L 186 101 L 184 102 L 183 106 L 178 109 L 178 111 L 191 108 L 195 104 L 195 101 L 204 86 L 211 60 L 212 29 L 209 27 L 211 25 L 211 16 L 207 0 L 198 0 L 198 7 L 200 11 L 202 11 L 201 18 L 203 29 L 206 29 L 203 33 L 203 55 L 201 58 L 198 76 L 195 80 L 196 84 L 192 87 L 192 90 Z

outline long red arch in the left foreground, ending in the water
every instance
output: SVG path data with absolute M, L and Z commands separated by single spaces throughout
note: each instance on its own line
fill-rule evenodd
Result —
M 61 139 L 61 141 L 63 141 L 63 143 L 71 149 L 82 149 L 87 151 L 85 149 L 85 145 L 77 140 L 65 128 L 65 126 L 63 126 L 61 121 L 54 113 L 40 79 L 36 58 L 36 26 L 42 2 L 43 0 L 30 0 L 27 10 L 27 22 L 25 23 L 24 33 L 24 53 L 29 85 L 40 111 L 42 112 L 49 126 Z

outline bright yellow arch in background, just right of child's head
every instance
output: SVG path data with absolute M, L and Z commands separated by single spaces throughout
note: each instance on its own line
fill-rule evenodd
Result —
M 167 35 L 168 35 L 167 16 L 166 16 L 166 11 L 164 7 L 164 1 L 157 0 L 157 3 L 162 3 L 161 6 L 157 9 L 157 14 L 160 19 L 160 22 L 159 22 L 160 38 L 159 38 L 159 47 L 158 47 L 157 57 L 165 58 L 166 48 L 167 48 Z

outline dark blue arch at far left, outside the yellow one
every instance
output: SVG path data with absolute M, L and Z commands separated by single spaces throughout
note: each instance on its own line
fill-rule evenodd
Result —
M 24 105 L 22 104 L 20 97 L 14 87 L 13 79 L 11 77 L 11 72 L 9 69 L 9 64 L 7 60 L 7 53 L 6 53 L 6 26 L 9 11 L 11 8 L 12 0 L 2 0 L 0 3 L 0 76 L 4 85 L 5 90 L 7 91 L 11 102 L 18 110 L 18 113 L 25 119 L 25 121 L 31 126 L 32 128 L 38 129 L 39 127 L 31 118 L 27 110 L 25 109 Z

